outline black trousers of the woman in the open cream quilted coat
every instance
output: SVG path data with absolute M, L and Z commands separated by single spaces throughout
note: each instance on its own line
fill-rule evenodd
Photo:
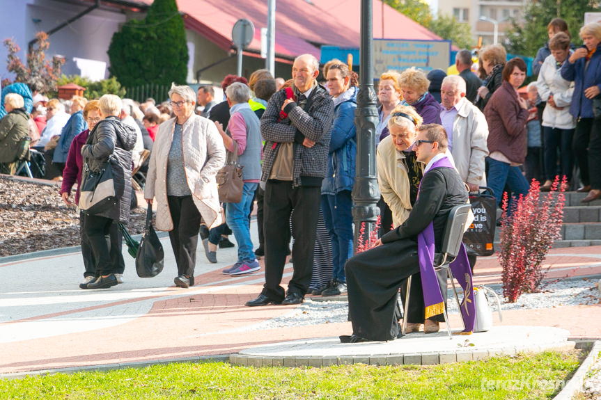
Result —
M 194 205 L 192 195 L 167 196 L 167 202 L 173 220 L 173 230 L 169 232 L 169 240 L 175 255 L 175 264 L 178 265 L 178 275 L 194 278 L 201 213 Z

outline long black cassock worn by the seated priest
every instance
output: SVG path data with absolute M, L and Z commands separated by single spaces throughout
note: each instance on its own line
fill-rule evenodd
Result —
M 398 289 L 409 275 L 419 272 L 417 235 L 432 222 L 435 250 L 439 253 L 448 213 L 456 205 L 465 204 L 467 198 L 457 171 L 433 168 L 421 181 L 419 198 L 407 221 L 385 234 L 381 246 L 347 261 L 348 307 L 354 335 L 370 340 L 396 339 L 400 330 Z M 446 278 L 442 287 L 446 288 Z M 446 290 L 443 296 L 446 298 Z M 423 298 L 414 296 L 411 301 L 416 306 L 421 302 L 423 310 Z

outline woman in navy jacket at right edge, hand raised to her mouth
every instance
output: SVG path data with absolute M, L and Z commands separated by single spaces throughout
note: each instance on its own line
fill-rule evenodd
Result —
M 570 114 L 577 119 L 572 148 L 580 167 L 582 202 L 601 198 L 601 24 L 580 29 L 584 45 L 561 67 L 561 77 L 574 81 Z M 588 150 L 587 150 L 588 149 Z

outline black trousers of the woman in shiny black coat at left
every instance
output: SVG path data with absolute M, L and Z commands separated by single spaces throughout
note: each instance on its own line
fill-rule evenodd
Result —
M 83 218 L 81 218 L 81 227 L 81 231 L 84 233 L 81 235 L 82 242 L 84 241 L 84 237 L 87 240 L 86 245 L 82 244 L 81 246 L 81 253 L 85 258 L 88 246 L 91 249 L 95 265 L 93 275 L 123 273 L 123 269 L 125 269 L 125 262 L 121 253 L 121 241 L 123 238 L 121 238 L 120 232 L 118 234 L 116 232 L 119 230 L 117 224 L 111 218 L 84 214 Z M 84 253 L 84 248 L 86 253 Z M 89 253 L 87 254 L 89 257 Z M 87 268 L 86 274 L 92 275 L 92 273 L 88 273 Z

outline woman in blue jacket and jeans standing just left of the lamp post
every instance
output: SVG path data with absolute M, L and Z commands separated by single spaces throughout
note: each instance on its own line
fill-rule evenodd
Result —
M 322 182 L 321 209 L 331 239 L 332 280 L 323 296 L 346 291 L 344 264 L 352 257 L 352 186 L 357 157 L 354 110 L 357 109 L 357 74 L 343 63 L 327 71 L 329 94 L 334 97 L 334 125 L 329 143 L 327 175 Z

